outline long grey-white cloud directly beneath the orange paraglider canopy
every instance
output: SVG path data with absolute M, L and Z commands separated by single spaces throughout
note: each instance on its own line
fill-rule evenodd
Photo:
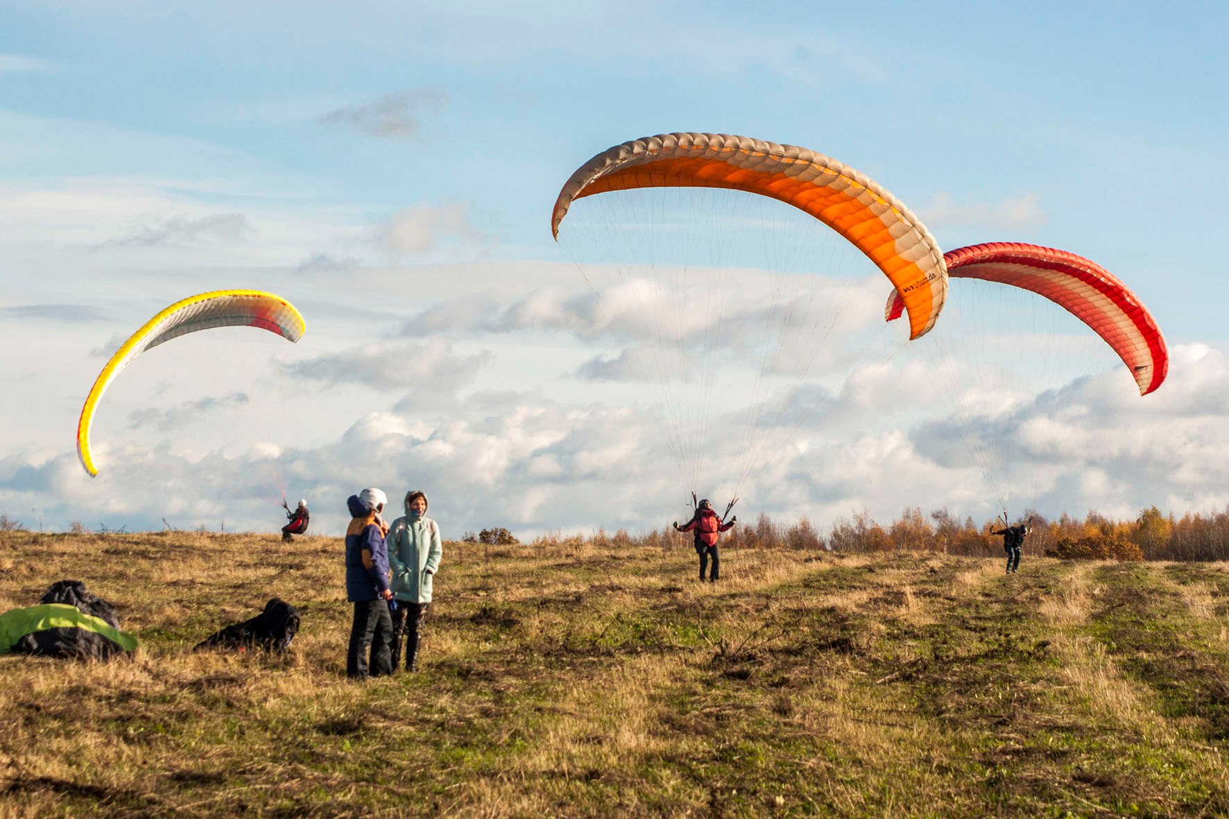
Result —
M 506 305 L 467 296 L 425 309 L 403 325 L 402 334 L 554 331 L 583 342 L 624 346 L 617 357 L 597 355 L 579 366 L 578 378 L 595 381 L 669 380 L 710 355 L 723 365 L 805 376 L 819 369 L 847 369 L 859 359 L 890 354 L 902 343 L 898 328 L 879 318 L 886 290 L 881 275 L 791 278 L 793 291 L 784 296 L 768 274 L 742 277 L 720 299 L 703 285 L 697 285 L 698 294 L 673 291 L 643 278 L 596 290 L 538 288 Z

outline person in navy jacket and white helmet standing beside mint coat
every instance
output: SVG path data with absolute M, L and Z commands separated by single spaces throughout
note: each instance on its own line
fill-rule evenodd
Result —
M 381 518 L 387 502 L 380 489 L 363 489 L 345 501 L 350 525 L 345 529 L 345 596 L 354 604 L 345 674 L 366 679 L 392 674 L 392 617 L 388 615 L 388 524 Z M 370 648 L 370 660 L 367 651 Z

